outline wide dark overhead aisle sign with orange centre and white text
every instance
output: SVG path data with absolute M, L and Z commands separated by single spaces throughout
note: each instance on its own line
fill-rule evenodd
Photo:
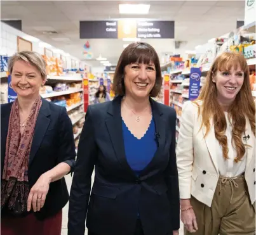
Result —
M 173 39 L 174 21 L 81 21 L 80 39 Z

